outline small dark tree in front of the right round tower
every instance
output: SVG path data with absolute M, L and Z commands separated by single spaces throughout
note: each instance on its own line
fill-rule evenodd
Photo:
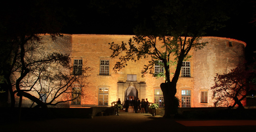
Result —
M 254 65 L 254 66 L 253 66 Z M 237 66 L 233 70 L 226 70 L 223 74 L 216 74 L 212 99 L 214 106 L 228 106 L 229 109 L 238 105 L 238 109 L 244 109 L 243 102 L 248 91 L 255 89 L 255 64 L 247 69 L 245 66 Z

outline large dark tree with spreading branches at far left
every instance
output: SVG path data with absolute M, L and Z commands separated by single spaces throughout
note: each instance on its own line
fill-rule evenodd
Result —
M 23 96 L 41 107 L 62 102 L 60 97 L 72 93 L 74 83 L 82 84 L 79 79 L 83 75 L 67 72 L 71 68 L 69 55 L 45 53 L 40 34 L 49 33 L 53 40 L 61 36 L 68 10 L 57 0 L 10 1 L 2 5 L 0 77 L 1 86 L 10 93 L 11 106 L 15 106 L 16 93 L 20 106 Z M 48 93 L 47 98 L 52 100 L 42 102 L 42 93 Z

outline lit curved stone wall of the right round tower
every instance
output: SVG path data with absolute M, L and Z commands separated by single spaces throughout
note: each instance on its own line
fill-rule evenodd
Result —
M 216 73 L 235 68 L 245 61 L 245 43 L 221 37 L 203 37 L 208 44 L 194 52 L 194 88 L 192 103 L 195 107 L 213 106 L 211 86 Z M 229 45 L 229 43 L 232 43 Z M 208 91 L 208 103 L 200 103 L 200 92 Z M 230 105 L 233 100 L 230 100 Z M 245 103 L 245 102 L 243 102 Z

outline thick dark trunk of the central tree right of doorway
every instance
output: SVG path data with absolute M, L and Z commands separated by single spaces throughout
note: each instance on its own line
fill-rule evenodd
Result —
M 171 115 L 177 113 L 177 106 L 175 106 L 175 94 L 177 92 L 176 90 L 176 84 L 172 82 L 166 82 L 162 83 L 160 85 L 163 95 L 164 95 L 164 101 L 165 101 L 165 114 L 163 117 L 170 118 Z

